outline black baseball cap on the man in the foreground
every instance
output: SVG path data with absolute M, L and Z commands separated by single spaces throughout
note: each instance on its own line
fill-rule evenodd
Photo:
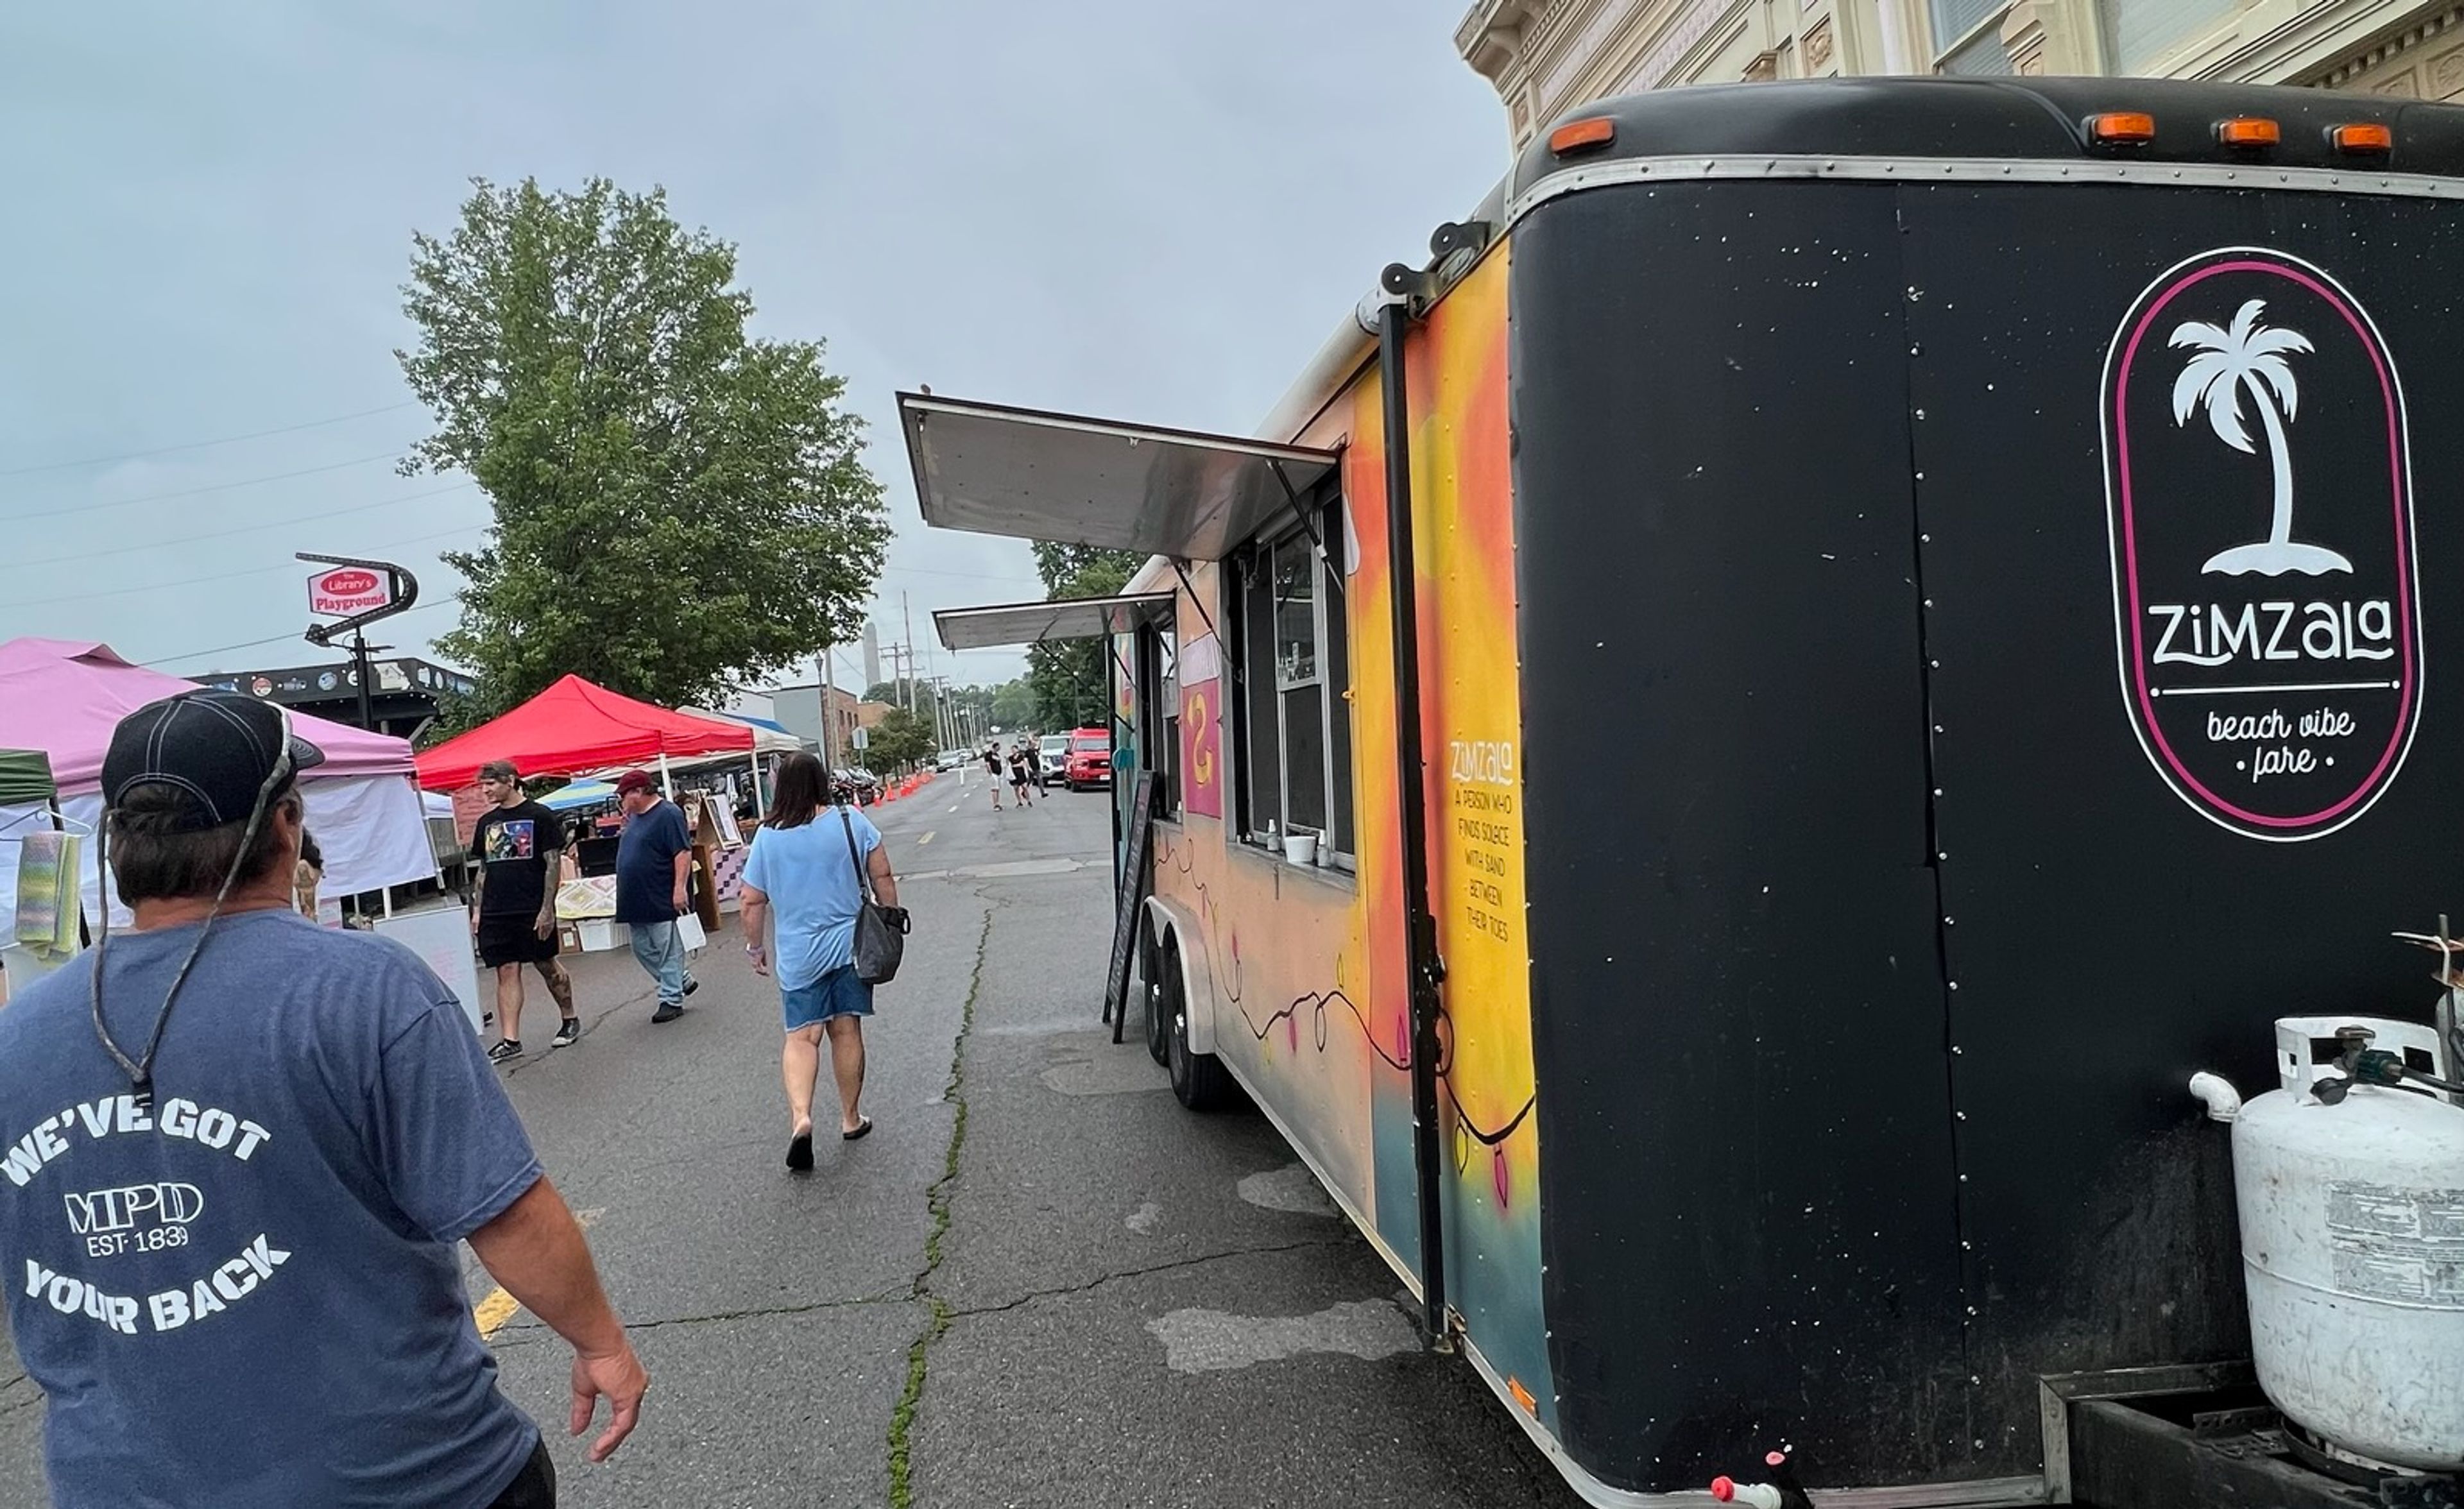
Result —
M 291 732 L 291 715 L 229 690 L 192 690 L 145 703 L 111 730 L 103 754 L 103 804 L 131 787 L 177 787 L 190 799 L 190 831 L 244 824 L 266 779 L 291 754 L 291 774 L 325 764 L 325 752 Z

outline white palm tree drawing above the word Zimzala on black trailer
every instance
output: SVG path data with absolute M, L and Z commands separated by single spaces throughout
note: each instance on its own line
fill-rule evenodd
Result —
M 2284 572 L 2301 572 L 2306 577 L 2351 572 L 2351 560 L 2324 545 L 2296 545 L 2292 538 L 2294 456 L 2284 427 L 2292 424 L 2301 392 L 2284 358 L 2296 350 L 2311 350 L 2311 343 L 2296 330 L 2262 325 L 2259 311 L 2264 308 L 2264 298 L 2252 298 L 2232 316 L 2230 330 L 2188 321 L 2176 325 L 2173 338 L 2166 343 L 2176 350 L 2186 345 L 2198 350 L 2183 365 L 2181 377 L 2173 380 L 2173 424 L 2188 424 L 2190 412 L 2205 402 L 2215 439 L 2252 456 L 2257 449 L 2250 444 L 2250 429 L 2242 424 L 2242 392 L 2247 390 L 2259 407 L 2259 424 L 2267 429 L 2267 459 L 2277 473 L 2277 510 L 2267 538 L 2257 545 L 2235 545 L 2232 550 L 2210 555 L 2200 572 L 2223 572 L 2227 577 L 2245 572 L 2259 572 L 2262 577 L 2282 577 Z

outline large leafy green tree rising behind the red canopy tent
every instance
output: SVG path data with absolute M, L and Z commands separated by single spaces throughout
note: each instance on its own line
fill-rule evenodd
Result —
M 439 651 L 473 715 L 564 673 L 660 703 L 850 641 L 890 523 L 862 422 L 818 340 L 756 340 L 734 247 L 663 190 L 473 182 L 411 237 L 394 353 L 436 414 L 407 471 L 466 471 L 495 505 Z

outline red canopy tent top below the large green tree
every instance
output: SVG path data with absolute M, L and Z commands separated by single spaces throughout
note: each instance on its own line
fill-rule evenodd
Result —
M 532 777 L 752 747 L 754 730 L 747 722 L 670 713 L 567 676 L 513 713 L 419 754 L 419 784 L 429 791 L 458 791 L 490 759 L 510 759 Z

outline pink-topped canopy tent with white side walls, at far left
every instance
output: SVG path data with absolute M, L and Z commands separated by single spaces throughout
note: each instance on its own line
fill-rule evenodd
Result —
M 145 703 L 197 690 L 160 671 L 131 666 L 91 639 L 12 639 L 0 644 L 0 747 L 42 750 L 59 779 L 69 821 L 91 831 L 101 819 L 103 750 L 121 718 Z M 325 762 L 301 779 L 308 831 L 325 851 L 325 893 L 350 895 L 436 875 L 411 745 L 323 718 L 293 715 Z M 5 814 L 0 814 L 5 816 Z M 94 848 L 84 858 L 86 912 L 99 915 Z M 17 905 L 17 853 L 0 846 L 0 912 Z

